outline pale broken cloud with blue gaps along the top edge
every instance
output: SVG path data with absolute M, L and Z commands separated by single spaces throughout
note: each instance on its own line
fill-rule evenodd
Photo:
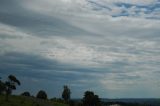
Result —
M 159 1 L 127 1 L 127 0 L 69 0 L 69 1 L 34 1 L 25 2 L 25 7 L 29 10 L 42 14 L 56 14 L 68 16 L 130 16 L 143 18 L 158 18 L 153 13 L 159 8 Z M 47 8 L 46 8 L 47 5 Z M 60 7 L 60 8 L 59 8 Z M 133 8 L 134 7 L 134 8 Z M 132 11 L 132 12 L 131 12 Z M 126 12 L 126 14 L 124 14 Z M 134 12 L 134 14 L 133 14 Z M 67 14 L 66 14 L 67 13 Z M 158 11 L 159 13 L 159 11 Z

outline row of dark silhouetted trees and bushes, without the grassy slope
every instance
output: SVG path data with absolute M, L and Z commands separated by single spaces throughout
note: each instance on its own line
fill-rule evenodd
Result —
M 16 90 L 16 86 L 19 85 L 21 85 L 21 83 L 14 75 L 9 75 L 6 81 L 1 81 L 0 79 L 0 94 L 5 95 L 5 100 L 9 101 L 9 95 L 11 95 L 12 91 Z M 23 92 L 21 96 L 34 97 L 28 91 Z M 47 93 L 44 90 L 38 91 L 36 98 L 48 100 Z M 82 100 L 77 101 L 71 99 L 71 91 L 67 85 L 63 87 L 62 99 L 52 98 L 50 101 L 65 103 L 70 106 L 152 106 L 139 103 L 102 102 L 99 96 L 94 94 L 93 91 L 84 92 Z

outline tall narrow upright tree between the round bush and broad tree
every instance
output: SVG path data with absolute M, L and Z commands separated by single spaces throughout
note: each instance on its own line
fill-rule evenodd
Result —
M 70 89 L 68 88 L 68 86 L 64 85 L 63 92 L 62 92 L 62 98 L 66 102 L 68 102 L 70 100 L 70 95 L 71 95 Z

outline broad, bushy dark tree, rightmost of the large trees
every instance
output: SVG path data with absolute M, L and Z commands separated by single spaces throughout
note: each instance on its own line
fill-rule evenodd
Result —
M 82 101 L 84 106 L 100 106 L 98 95 L 94 95 L 92 91 L 86 91 Z

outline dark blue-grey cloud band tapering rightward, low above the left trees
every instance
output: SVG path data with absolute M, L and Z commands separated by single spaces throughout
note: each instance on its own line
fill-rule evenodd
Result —
M 90 73 L 98 73 L 92 69 L 78 68 L 26 53 L 7 52 L 1 54 L 0 58 L 0 73 L 3 74 L 18 73 L 20 76 L 32 78 L 64 78 L 69 80 L 78 77 L 81 79 L 82 76 L 90 76 Z

